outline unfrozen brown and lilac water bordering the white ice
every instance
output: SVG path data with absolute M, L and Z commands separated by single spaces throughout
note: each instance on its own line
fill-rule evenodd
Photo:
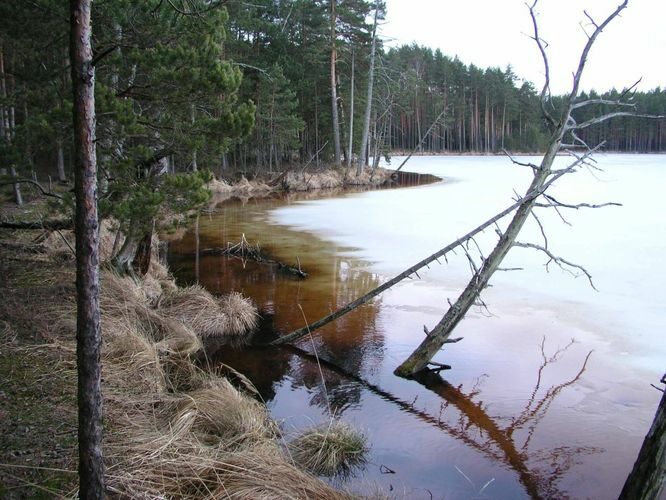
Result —
M 420 197 L 429 191 L 419 189 L 430 188 L 416 189 Z M 277 332 L 312 322 L 390 277 L 375 272 L 382 266 L 360 258 L 354 247 L 273 222 L 275 209 L 298 201 L 291 196 L 225 202 L 170 243 L 171 268 L 181 281 L 198 281 L 215 293 L 243 292 L 262 311 L 264 330 Z M 243 235 L 274 258 L 300 265 L 308 278 L 201 255 Z M 399 379 L 392 370 L 421 340 L 422 325 L 444 312 L 444 299 L 435 291 L 456 288 L 445 279 L 424 278 L 322 328 L 299 349 L 221 347 L 211 355 L 253 380 L 287 436 L 326 422 L 332 413 L 361 428 L 371 446 L 368 463 L 334 481 L 355 492 L 379 489 L 397 498 L 616 497 L 658 393 L 645 390 L 638 378 L 614 383 L 612 342 L 598 338 L 575 307 L 563 314 L 557 305 L 531 300 L 511 299 L 507 305 L 499 294 L 492 298 L 501 321 L 479 310 L 458 328 L 456 336 L 465 340 L 442 358 L 453 365 L 451 371 L 418 382 Z M 313 352 L 322 360 L 324 383 L 308 354 Z

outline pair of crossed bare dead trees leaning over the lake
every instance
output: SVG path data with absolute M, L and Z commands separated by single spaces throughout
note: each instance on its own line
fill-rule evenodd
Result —
M 443 368 L 443 365 L 437 363 L 431 363 L 433 356 L 442 348 L 446 343 L 456 342 L 459 339 L 450 339 L 451 333 L 456 325 L 462 320 L 469 308 L 479 303 L 480 293 L 488 285 L 488 282 L 491 276 L 497 271 L 500 267 L 500 264 L 504 257 L 507 255 L 509 250 L 513 247 L 523 247 L 535 249 L 543 252 L 549 259 L 549 262 L 552 262 L 563 269 L 566 269 L 571 272 L 578 272 L 584 274 L 592 286 L 592 278 L 589 272 L 582 266 L 569 262 L 568 260 L 554 255 L 548 248 L 548 240 L 543 230 L 543 226 L 538 219 L 537 214 L 534 212 L 534 208 L 545 208 L 556 210 L 558 214 L 561 215 L 561 210 L 566 209 L 581 209 L 581 208 L 600 208 L 608 205 L 617 205 L 616 203 L 605 203 L 600 205 L 591 205 L 588 203 L 578 203 L 578 204 L 568 204 L 563 203 L 553 196 L 547 194 L 547 190 L 559 180 L 562 176 L 577 172 L 581 169 L 596 169 L 597 167 L 594 164 L 592 159 L 593 153 L 599 150 L 603 143 L 598 144 L 594 147 L 589 146 L 585 141 L 583 141 L 578 133 L 579 131 L 588 128 L 592 125 L 604 122 L 610 118 L 617 116 L 642 116 L 637 115 L 634 111 L 634 105 L 625 102 L 625 98 L 628 97 L 628 94 L 632 91 L 636 84 L 626 90 L 618 99 L 608 100 L 608 99 L 587 99 L 579 101 L 577 100 L 580 80 L 585 68 L 585 63 L 587 56 L 590 52 L 590 49 L 594 45 L 597 37 L 603 31 L 603 29 L 615 19 L 622 10 L 626 8 L 628 0 L 622 2 L 618 7 L 613 11 L 601 24 L 597 24 L 592 20 L 592 18 L 587 15 L 588 19 L 592 22 L 593 31 L 588 34 L 588 41 L 583 48 L 581 53 L 578 68 L 576 73 L 573 75 L 573 84 L 571 92 L 568 96 L 565 97 L 564 102 L 561 106 L 561 111 L 557 116 L 554 115 L 554 108 L 550 102 L 550 69 L 548 58 L 546 56 L 544 42 L 541 40 L 538 31 L 538 25 L 536 22 L 535 8 L 537 5 L 537 0 L 535 0 L 529 7 L 529 13 L 532 18 L 534 33 L 533 39 L 539 48 L 539 51 L 542 55 L 542 60 L 545 68 L 545 83 L 541 90 L 540 101 L 541 109 L 544 116 L 544 120 L 548 124 L 550 129 L 550 141 L 546 149 L 546 153 L 541 161 L 540 165 L 532 163 L 521 163 L 517 160 L 512 161 L 523 168 L 530 168 L 534 174 L 532 182 L 528 189 L 525 191 L 525 194 L 522 197 L 519 197 L 515 202 L 507 207 L 502 212 L 498 213 L 491 219 L 487 220 L 483 224 L 479 225 L 466 235 L 461 238 L 458 238 L 456 241 L 450 243 L 449 245 L 443 247 L 439 251 L 430 255 L 429 257 L 423 259 L 417 264 L 406 269 L 399 275 L 395 276 L 386 283 L 378 286 L 377 288 L 367 292 L 365 295 L 359 297 L 358 299 L 350 302 L 346 306 L 338 309 L 337 311 L 332 312 L 328 316 L 321 318 L 311 324 L 308 324 L 298 330 L 295 330 L 287 335 L 281 336 L 278 339 L 271 342 L 272 345 L 285 344 L 288 342 L 294 342 L 305 335 L 312 333 L 318 328 L 344 316 L 345 314 L 353 311 L 354 309 L 365 304 L 372 298 L 386 291 L 387 289 L 393 287 L 400 281 L 404 280 L 407 277 L 416 275 L 418 277 L 418 271 L 426 267 L 431 262 L 438 261 L 439 258 L 446 258 L 446 255 L 455 249 L 462 248 L 465 253 L 470 257 L 470 263 L 472 264 L 474 274 L 472 279 L 469 281 L 467 287 L 462 292 L 458 300 L 451 305 L 448 312 L 444 315 L 442 320 L 438 325 L 427 333 L 426 338 L 421 343 L 421 345 L 412 353 L 412 355 L 403 362 L 395 371 L 399 376 L 403 377 L 413 377 L 415 374 L 424 371 L 428 365 L 433 364 L 438 369 Z M 588 106 L 593 105 L 606 105 L 612 106 L 615 109 L 620 109 L 619 111 L 612 111 L 603 115 L 599 115 L 595 118 L 591 118 L 582 123 L 578 123 L 573 117 L 573 112 L 577 109 L 582 109 Z M 648 116 L 648 118 L 663 118 L 661 116 Z M 554 162 L 558 154 L 566 153 L 570 156 L 571 161 L 565 167 L 555 167 Z M 513 218 L 509 223 L 508 227 L 501 231 L 497 223 L 511 215 Z M 544 237 L 544 242 L 541 245 L 534 243 L 522 243 L 517 241 L 517 236 L 524 226 L 527 220 L 533 217 L 539 224 L 541 228 L 542 235 Z M 490 255 L 485 258 L 481 256 L 481 262 L 479 265 L 475 264 L 473 259 L 468 253 L 468 248 L 470 245 L 476 245 L 474 240 L 475 236 L 479 233 L 486 231 L 490 226 L 496 227 L 496 232 L 498 233 L 499 240 L 490 253 Z

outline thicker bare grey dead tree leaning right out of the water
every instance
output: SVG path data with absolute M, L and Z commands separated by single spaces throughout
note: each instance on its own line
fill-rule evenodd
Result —
M 517 238 L 527 220 L 530 217 L 537 217 L 534 213 L 534 208 L 544 207 L 559 211 L 560 209 L 565 208 L 582 208 L 591 206 L 588 204 L 568 205 L 560 203 L 552 196 L 549 196 L 546 193 L 546 190 L 555 180 L 562 177 L 563 175 L 574 173 L 584 167 L 595 168 L 593 162 L 591 161 L 591 155 L 595 150 L 601 147 L 602 144 L 596 147 L 590 147 L 578 136 L 580 130 L 590 127 L 594 124 L 601 123 L 615 116 L 635 115 L 633 111 L 615 111 L 597 116 L 583 123 L 577 123 L 573 117 L 573 112 L 576 109 L 595 104 L 609 104 L 616 107 L 631 107 L 631 104 L 625 103 L 622 99 L 622 97 L 626 96 L 628 91 L 625 92 L 620 99 L 614 101 L 604 99 L 587 99 L 584 101 L 577 100 L 580 80 L 583 75 L 583 70 L 585 69 L 585 63 L 587 61 L 587 56 L 590 52 L 590 49 L 604 28 L 606 28 L 606 26 L 608 26 L 608 24 L 611 23 L 613 19 L 615 19 L 620 14 L 620 12 L 622 12 L 622 10 L 627 7 L 628 0 L 625 0 L 620 5 L 618 5 L 617 8 L 603 22 L 599 24 L 595 22 L 589 14 L 585 13 L 586 17 L 591 22 L 593 30 L 591 33 L 587 33 L 588 40 L 580 55 L 578 68 L 573 76 L 571 92 L 568 94 L 568 96 L 565 97 L 559 115 L 555 115 L 551 111 L 554 108 L 552 107 L 550 101 L 550 68 L 548 57 L 546 55 L 545 44 L 539 35 L 539 28 L 536 21 L 535 8 L 537 2 L 538 0 L 535 0 L 532 5 L 528 6 L 528 8 L 530 17 L 532 19 L 532 38 L 539 48 L 545 70 L 545 83 L 541 90 L 540 100 L 541 111 L 544 120 L 546 121 L 550 130 L 550 140 L 546 148 L 546 153 L 540 165 L 533 163 L 522 164 L 514 160 L 514 163 L 518 165 L 531 168 L 534 174 L 532 183 L 521 198 L 520 206 L 516 210 L 516 213 L 514 214 L 511 222 L 504 231 L 500 230 L 499 228 L 496 229 L 499 239 L 492 252 L 488 255 L 487 258 L 484 258 L 483 256 L 481 257 L 480 266 L 478 268 L 474 268 L 474 274 L 461 293 L 460 297 L 458 297 L 456 302 L 450 306 L 447 313 L 435 326 L 435 328 L 433 328 L 432 331 L 427 332 L 426 338 L 423 340 L 423 342 L 421 342 L 416 350 L 398 368 L 396 368 L 396 375 L 412 377 L 416 373 L 423 371 L 428 367 L 432 358 L 447 342 L 451 336 L 451 333 L 458 325 L 458 323 L 463 319 L 470 307 L 479 301 L 481 292 L 486 288 L 486 286 L 488 286 L 490 278 L 493 276 L 495 271 L 498 270 L 502 261 L 504 260 L 504 257 L 506 257 L 509 250 L 511 250 L 513 247 L 524 247 L 539 250 L 546 254 L 550 262 L 554 262 L 560 267 L 568 270 L 575 268 L 577 271 L 583 272 L 590 280 L 590 283 L 592 283 L 590 274 L 584 268 L 572 264 L 569 261 L 551 253 L 551 251 L 548 249 L 548 240 L 545 238 L 545 233 L 543 233 L 543 231 L 543 245 L 521 243 L 517 241 Z M 581 149 L 584 152 L 578 152 Z M 557 155 L 562 152 L 571 156 L 573 161 L 567 167 L 557 168 L 554 166 L 554 162 Z M 538 221 L 538 218 L 536 220 L 541 227 L 541 223 Z

